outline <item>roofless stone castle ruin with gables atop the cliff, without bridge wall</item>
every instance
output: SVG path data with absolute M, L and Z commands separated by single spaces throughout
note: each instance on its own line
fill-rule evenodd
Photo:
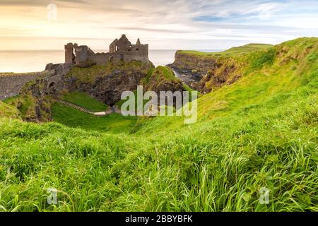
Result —
M 94 64 L 107 64 L 108 62 L 118 63 L 121 61 L 142 61 L 148 64 L 148 44 L 141 44 L 138 39 L 136 44 L 131 44 L 126 35 L 110 44 L 110 51 L 107 53 L 95 53 L 86 45 L 69 43 L 65 45 L 65 63 L 79 65 L 85 62 Z

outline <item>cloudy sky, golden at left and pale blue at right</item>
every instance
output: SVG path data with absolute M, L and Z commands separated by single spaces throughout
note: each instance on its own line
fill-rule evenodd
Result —
M 108 49 L 122 34 L 150 49 L 228 49 L 318 36 L 317 0 L 0 0 L 0 51 Z

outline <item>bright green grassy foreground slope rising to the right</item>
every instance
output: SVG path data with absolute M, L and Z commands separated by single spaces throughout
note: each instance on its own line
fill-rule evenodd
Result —
M 271 48 L 270 59 L 251 52 L 242 78 L 197 100 L 196 124 L 141 117 L 114 134 L 6 114 L 0 209 L 318 211 L 318 39 Z

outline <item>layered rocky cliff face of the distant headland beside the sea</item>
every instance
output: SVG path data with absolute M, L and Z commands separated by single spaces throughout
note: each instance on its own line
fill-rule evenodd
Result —
M 242 76 L 242 63 L 232 57 L 200 56 L 177 51 L 171 69 L 182 74 L 182 80 L 200 93 L 209 93 Z

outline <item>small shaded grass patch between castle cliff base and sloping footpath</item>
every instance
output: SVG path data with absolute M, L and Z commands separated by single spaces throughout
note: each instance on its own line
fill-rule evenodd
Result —
M 105 112 L 108 109 L 108 106 L 98 100 L 95 100 L 93 97 L 90 97 L 86 93 L 75 91 L 72 93 L 66 93 L 63 95 L 62 100 L 66 100 L 75 105 L 84 107 L 92 112 Z

